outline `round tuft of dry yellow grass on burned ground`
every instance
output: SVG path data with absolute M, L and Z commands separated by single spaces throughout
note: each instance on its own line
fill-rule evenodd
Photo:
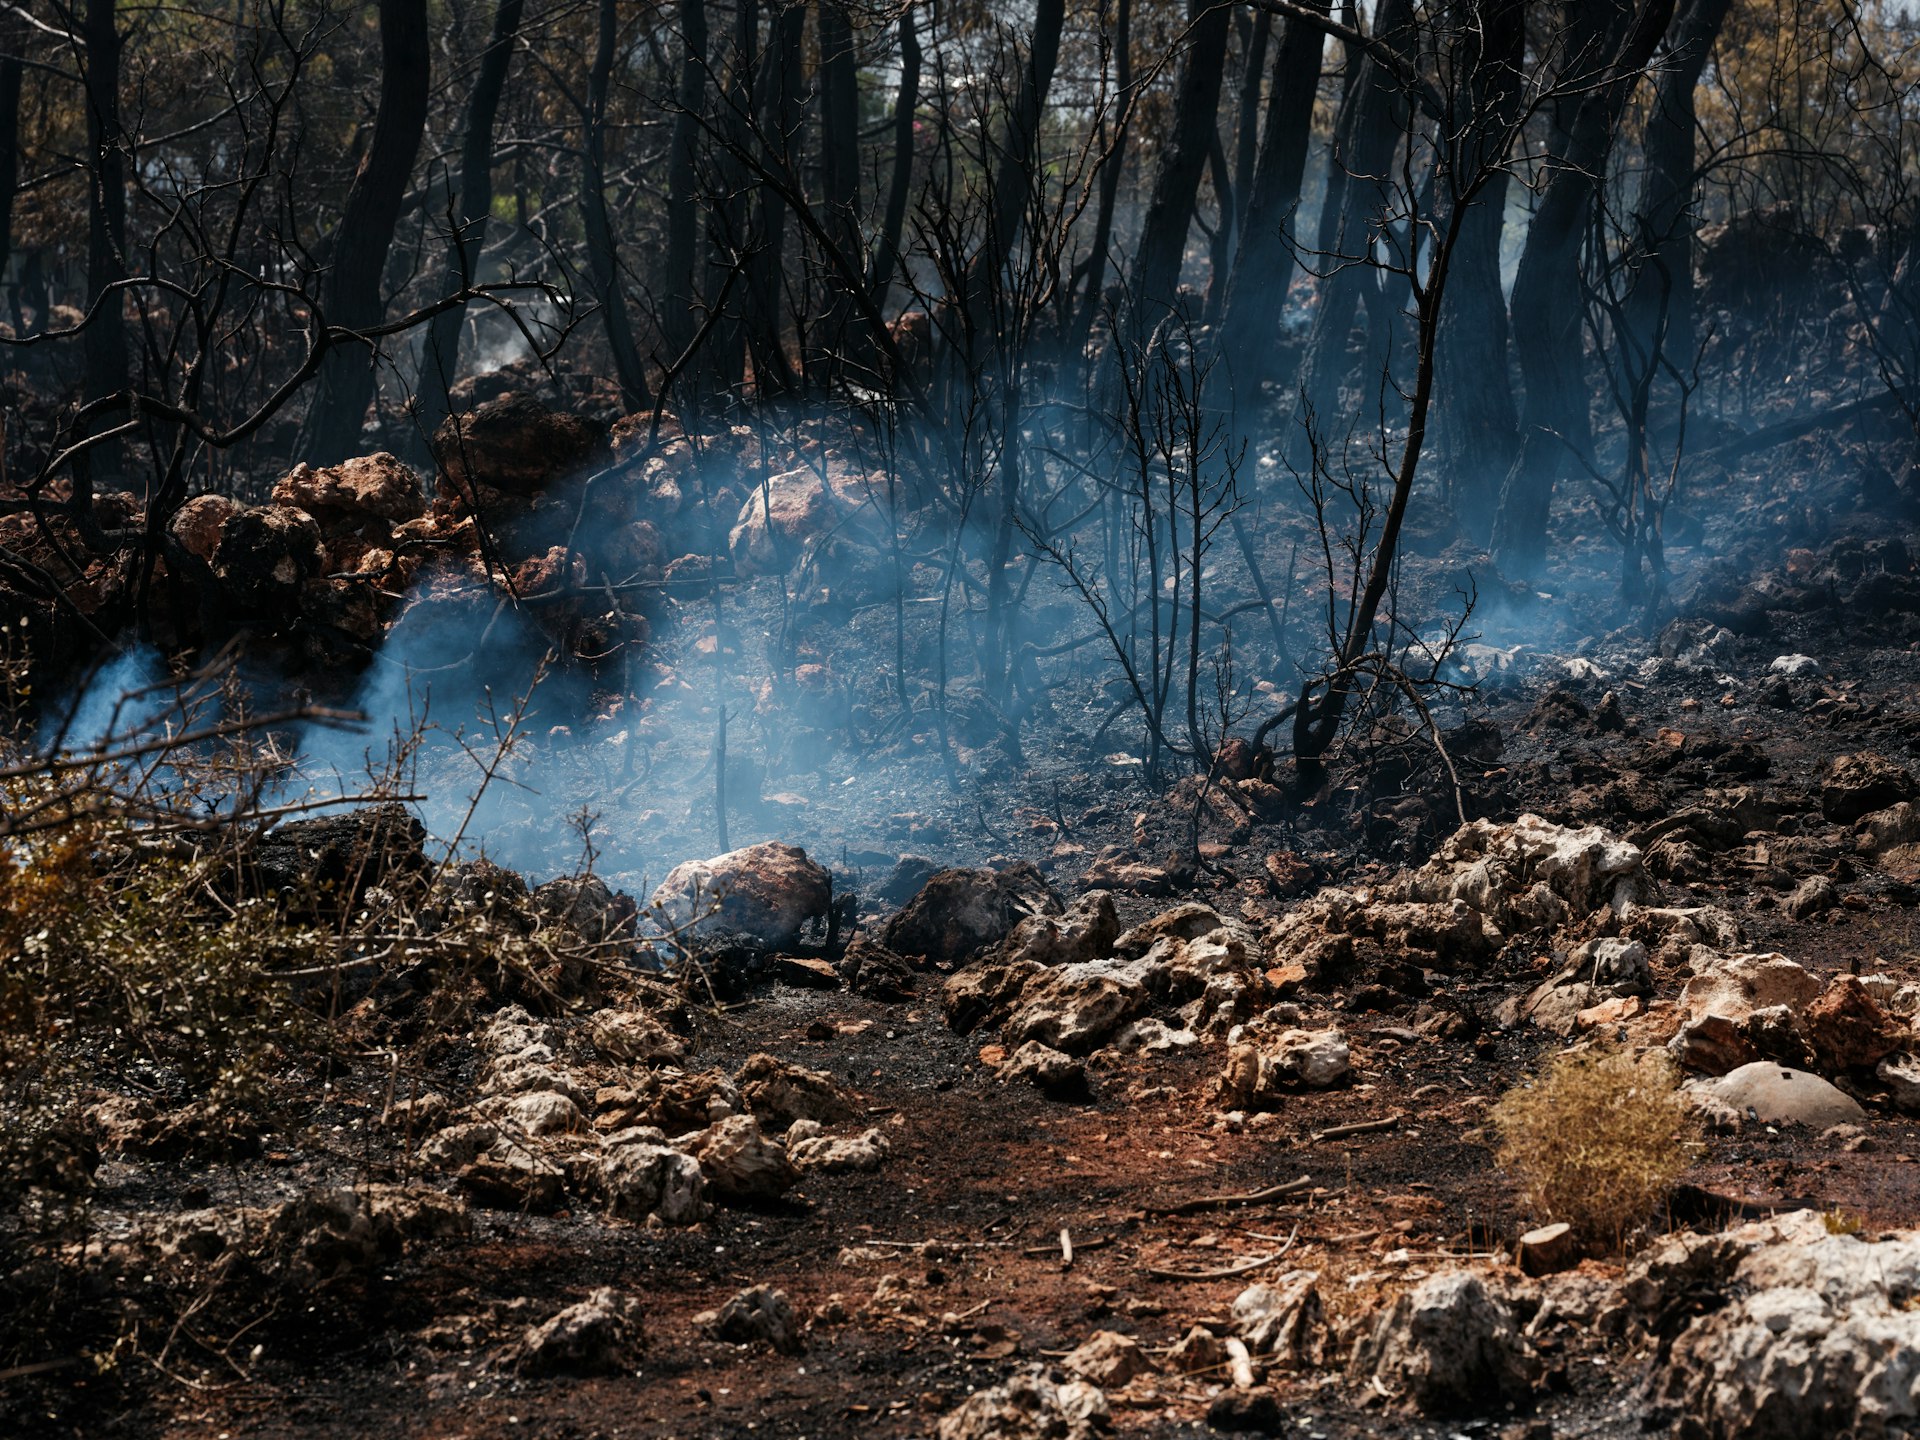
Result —
M 1500 1164 L 1536 1221 L 1567 1221 L 1590 1246 L 1620 1248 L 1695 1152 L 1697 1119 L 1665 1054 L 1555 1056 L 1494 1106 Z

